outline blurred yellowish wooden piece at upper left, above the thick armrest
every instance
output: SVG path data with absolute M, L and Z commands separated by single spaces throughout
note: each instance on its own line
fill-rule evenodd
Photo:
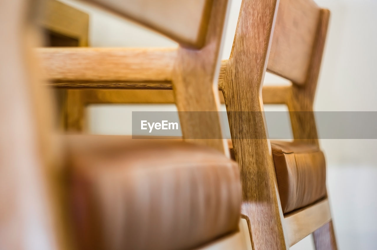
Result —
M 43 4 L 43 11 L 38 15 L 41 27 L 77 39 L 79 46 L 88 45 L 88 14 L 57 0 L 43 0 Z

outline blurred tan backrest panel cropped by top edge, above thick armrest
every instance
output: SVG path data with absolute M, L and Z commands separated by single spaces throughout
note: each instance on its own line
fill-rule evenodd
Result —
M 157 30 L 180 44 L 204 44 L 212 0 L 87 0 Z M 183 28 L 184 27 L 184 28 Z

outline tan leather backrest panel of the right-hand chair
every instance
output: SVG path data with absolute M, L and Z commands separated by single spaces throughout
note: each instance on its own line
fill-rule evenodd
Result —
M 304 84 L 320 9 L 313 0 L 280 0 L 267 70 Z

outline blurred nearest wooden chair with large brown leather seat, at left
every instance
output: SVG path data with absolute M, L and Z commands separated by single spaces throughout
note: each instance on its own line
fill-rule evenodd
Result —
M 179 109 L 217 111 L 213 85 L 227 1 L 159 4 L 165 11 L 171 8 L 168 13 L 173 17 L 179 11 L 188 13 L 177 18 L 183 18 L 181 24 L 188 18 L 193 26 L 170 27 L 173 17 L 166 12 L 149 20 L 150 13 L 144 18 L 137 9 L 111 7 L 184 44 L 173 69 Z M 31 27 L 37 13 L 34 7 L 31 1 L 17 0 L 0 9 L 0 33 L 5 38 L 0 47 L 4 55 L 0 69 L 0 245 L 5 249 L 212 249 L 219 243 L 225 249 L 245 249 L 244 235 L 237 232 L 238 165 L 227 157 L 224 139 L 193 140 L 195 145 L 130 141 L 123 136 L 55 135 L 48 93 L 38 80 L 37 60 L 25 48 L 38 41 Z M 128 53 L 136 61 L 143 56 Z M 127 76 L 136 76 L 135 71 Z M 163 77 L 153 70 L 144 74 Z M 206 122 L 218 123 L 217 112 L 213 114 Z M 201 123 L 192 117 L 183 117 L 181 123 L 189 138 L 221 132 L 219 123 L 211 130 L 188 126 Z

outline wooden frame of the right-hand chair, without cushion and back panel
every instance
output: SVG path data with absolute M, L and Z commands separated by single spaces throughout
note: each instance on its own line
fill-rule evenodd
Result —
M 277 91 L 282 90 L 270 87 L 271 92 L 265 98 L 267 100 L 262 99 L 261 90 L 278 4 L 276 0 L 242 2 L 233 48 L 222 83 L 233 149 L 241 168 L 242 214 L 249 223 L 254 249 L 288 249 L 313 232 L 316 249 L 337 249 L 328 199 L 283 215 L 270 141 L 250 139 L 268 138 L 263 103 L 273 99 L 273 92 L 276 91 L 277 94 Z M 318 144 L 318 139 L 313 100 L 328 20 L 329 11 L 321 9 L 306 82 L 303 85 L 293 83 L 288 88 L 284 87 L 284 95 L 287 96 L 279 100 L 284 101 L 282 104 L 287 104 L 289 111 L 309 111 L 290 112 L 291 124 L 295 139 L 314 144 Z M 245 68 L 245 65 L 248 67 Z M 280 98 L 281 94 L 276 96 Z M 279 102 L 274 100 L 271 103 Z M 237 111 L 257 111 L 262 115 L 250 117 L 250 112 Z M 302 114 L 309 115 L 299 117 Z M 236 131 L 242 133 L 236 135 Z

